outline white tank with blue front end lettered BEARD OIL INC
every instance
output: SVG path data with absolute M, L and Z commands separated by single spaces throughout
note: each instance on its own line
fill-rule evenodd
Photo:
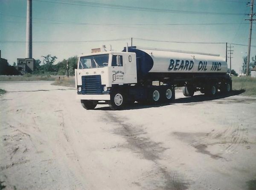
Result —
M 126 48 L 123 50 L 126 51 Z M 144 49 L 128 47 L 128 52 L 136 53 L 139 78 L 155 73 L 170 74 L 216 74 L 226 75 L 227 62 L 219 55 L 184 52 L 166 49 Z

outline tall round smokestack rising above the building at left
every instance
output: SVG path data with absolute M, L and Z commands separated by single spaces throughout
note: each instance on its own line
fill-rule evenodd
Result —
M 26 58 L 32 58 L 32 0 L 27 0 Z

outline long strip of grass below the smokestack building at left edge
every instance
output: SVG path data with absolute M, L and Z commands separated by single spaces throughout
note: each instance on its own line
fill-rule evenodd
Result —
M 54 81 L 59 76 L 54 75 L 0 75 L 0 81 Z

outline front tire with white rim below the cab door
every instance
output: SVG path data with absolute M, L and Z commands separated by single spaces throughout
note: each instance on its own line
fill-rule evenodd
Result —
M 110 102 L 109 107 L 112 110 L 122 109 L 125 105 L 125 96 L 121 91 L 113 91 L 110 94 Z

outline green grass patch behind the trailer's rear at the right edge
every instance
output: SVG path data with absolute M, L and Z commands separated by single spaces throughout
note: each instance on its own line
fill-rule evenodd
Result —
M 245 90 L 241 95 L 256 96 L 256 78 L 232 77 L 233 90 Z

